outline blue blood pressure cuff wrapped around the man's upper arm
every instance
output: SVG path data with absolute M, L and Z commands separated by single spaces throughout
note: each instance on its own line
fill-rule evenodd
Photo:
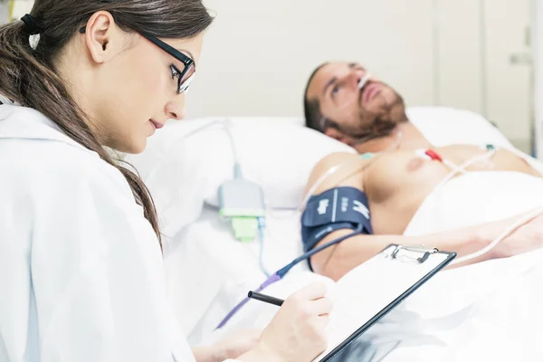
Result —
M 301 240 L 309 252 L 325 236 L 339 229 L 373 233 L 367 195 L 354 187 L 336 187 L 313 195 L 301 215 Z

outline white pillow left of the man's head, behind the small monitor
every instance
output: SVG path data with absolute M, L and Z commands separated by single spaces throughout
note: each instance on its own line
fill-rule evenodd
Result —
M 233 178 L 233 150 L 224 120 L 168 123 L 149 138 L 144 153 L 126 157 L 153 195 L 167 236 L 194 222 L 205 201 L 217 205 L 218 187 Z M 302 124 L 300 119 L 230 119 L 243 178 L 262 186 L 268 207 L 297 208 L 322 157 L 356 152 Z

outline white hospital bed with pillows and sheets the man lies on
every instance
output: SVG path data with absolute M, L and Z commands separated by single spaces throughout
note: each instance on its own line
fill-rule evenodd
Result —
M 414 108 L 408 116 L 438 147 L 492 143 L 512 148 L 498 129 L 470 111 Z M 235 329 L 266 325 L 275 307 L 249 303 L 224 329 L 214 330 L 247 291 L 265 279 L 258 262 L 260 247 L 270 271 L 300 255 L 298 207 L 311 168 L 329 153 L 354 152 L 302 127 L 300 119 L 281 118 L 228 119 L 232 148 L 224 132 L 225 120 L 174 122 L 149 138 L 144 154 L 127 158 L 154 195 L 166 236 L 168 291 L 193 345 Z M 217 213 L 216 191 L 233 176 L 234 155 L 243 176 L 261 185 L 266 196 L 263 246 L 234 240 L 230 224 Z M 530 162 L 541 169 L 537 161 Z M 504 216 L 485 210 L 490 219 Z M 509 206 L 500 210 L 519 211 Z M 442 219 L 433 219 L 433 227 L 452 227 L 451 214 L 442 211 Z M 419 214 L 420 222 L 411 225 L 408 233 L 430 232 L 421 226 L 427 214 L 435 213 Z M 481 222 L 470 219 L 472 224 Z M 543 312 L 538 306 L 543 288 L 537 288 L 536 281 L 543 276 L 537 266 L 542 258 L 541 252 L 530 252 L 443 271 L 367 332 L 366 359 L 361 360 L 540 360 Z M 333 283 L 302 263 L 267 292 L 285 298 L 310 281 Z M 503 313 L 510 317 L 498 317 Z

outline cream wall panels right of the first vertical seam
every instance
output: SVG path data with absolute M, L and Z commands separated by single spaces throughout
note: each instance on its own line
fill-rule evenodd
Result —
M 481 113 L 530 151 L 530 0 L 436 0 L 436 104 Z M 538 1 L 538 0 L 534 0 Z

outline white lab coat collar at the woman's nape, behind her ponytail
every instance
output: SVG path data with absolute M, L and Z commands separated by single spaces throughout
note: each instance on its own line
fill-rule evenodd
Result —
M 0 105 L 1 138 L 55 140 L 92 152 L 66 136 L 51 119 L 39 111 L 13 103 Z

